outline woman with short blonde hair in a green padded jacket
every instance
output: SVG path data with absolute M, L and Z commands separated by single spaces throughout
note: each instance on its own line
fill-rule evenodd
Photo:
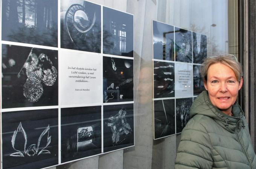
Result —
M 256 169 L 244 112 L 236 103 L 242 69 L 233 55 L 207 58 L 203 91 L 181 133 L 175 169 Z

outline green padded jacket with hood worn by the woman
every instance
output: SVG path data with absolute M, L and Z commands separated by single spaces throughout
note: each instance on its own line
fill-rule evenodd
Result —
M 244 112 L 235 103 L 233 116 L 212 105 L 203 91 L 190 108 L 190 120 L 181 132 L 175 169 L 256 169 Z

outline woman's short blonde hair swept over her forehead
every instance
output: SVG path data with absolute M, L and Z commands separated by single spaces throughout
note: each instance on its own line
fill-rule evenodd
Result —
M 207 81 L 207 72 L 209 67 L 215 63 L 222 63 L 232 69 L 235 73 L 236 80 L 240 82 L 242 78 L 242 66 L 237 61 L 234 55 L 226 54 L 226 55 L 219 55 L 219 56 L 212 56 L 208 57 L 204 60 L 203 64 L 200 67 L 200 73 L 203 77 L 204 81 Z

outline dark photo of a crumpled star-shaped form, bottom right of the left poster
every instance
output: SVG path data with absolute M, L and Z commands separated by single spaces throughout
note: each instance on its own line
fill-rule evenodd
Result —
M 133 104 L 103 106 L 104 153 L 134 145 Z

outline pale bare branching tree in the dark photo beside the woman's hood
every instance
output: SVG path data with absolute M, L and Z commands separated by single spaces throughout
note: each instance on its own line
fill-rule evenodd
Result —
M 189 109 L 192 105 L 192 98 L 177 99 L 176 101 L 176 117 L 181 121 L 181 127 L 183 128 L 189 120 Z

